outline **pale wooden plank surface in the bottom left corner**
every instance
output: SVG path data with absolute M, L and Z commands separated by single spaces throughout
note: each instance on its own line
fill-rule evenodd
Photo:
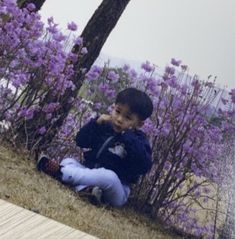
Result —
M 52 219 L 0 199 L 1 239 L 95 239 Z

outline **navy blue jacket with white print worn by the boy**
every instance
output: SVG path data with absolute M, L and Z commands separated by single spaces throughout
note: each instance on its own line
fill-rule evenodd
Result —
M 113 170 L 122 183 L 136 183 L 152 166 L 151 148 L 145 134 L 137 129 L 116 133 L 110 123 L 97 124 L 91 119 L 76 136 L 77 146 L 84 152 L 89 168 Z

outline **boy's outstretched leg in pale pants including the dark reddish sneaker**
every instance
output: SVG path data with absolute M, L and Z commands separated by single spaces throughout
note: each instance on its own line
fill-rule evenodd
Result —
M 59 181 L 75 186 L 78 191 L 87 186 L 98 186 L 103 191 L 104 200 L 113 206 L 126 203 L 130 193 L 129 187 L 122 185 L 113 171 L 85 168 L 73 158 L 65 158 L 59 163 L 43 155 L 37 162 L 37 168 Z

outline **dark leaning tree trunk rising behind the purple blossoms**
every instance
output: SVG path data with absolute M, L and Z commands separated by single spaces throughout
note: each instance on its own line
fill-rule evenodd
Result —
M 62 108 L 57 112 L 59 114 L 58 120 L 53 124 L 53 128 L 50 133 L 46 134 L 45 137 L 41 138 L 40 135 L 35 134 L 39 122 L 42 125 L 42 120 L 44 125 L 48 125 L 44 115 L 42 113 L 38 113 L 33 120 L 28 120 L 26 123 L 28 128 L 28 149 L 32 149 L 34 144 L 39 140 L 40 143 L 37 147 L 46 146 L 49 144 L 53 138 L 55 137 L 58 129 L 63 124 L 65 118 L 67 117 L 69 111 L 72 108 L 72 104 L 70 102 L 71 97 L 76 97 L 80 87 L 84 81 L 84 71 L 82 69 L 86 69 L 88 71 L 92 64 L 95 62 L 99 53 L 107 40 L 109 34 L 117 24 L 121 14 L 126 8 L 127 4 L 130 0 L 103 0 L 98 9 L 95 11 L 85 29 L 82 32 L 82 38 L 84 42 L 84 46 L 87 47 L 88 53 L 83 56 L 77 63 L 74 64 L 74 68 L 76 70 L 76 75 L 73 76 L 73 83 L 76 86 L 74 91 L 68 89 L 63 97 L 60 98 L 59 103 L 62 105 Z M 73 52 L 79 52 L 79 46 L 73 47 Z M 44 104 L 48 104 L 49 102 L 57 102 L 57 98 L 49 92 L 45 97 Z M 19 132 L 25 132 L 25 125 L 19 128 Z M 33 138 L 30 138 L 30 135 L 33 135 Z

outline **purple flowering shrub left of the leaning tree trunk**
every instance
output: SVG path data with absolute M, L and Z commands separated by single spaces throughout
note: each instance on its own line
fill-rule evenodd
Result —
M 78 54 L 71 47 L 66 49 L 69 38 L 58 30 L 53 18 L 44 27 L 33 9 L 33 4 L 19 9 L 15 1 L 0 2 L 0 120 L 11 123 L 13 134 L 23 128 L 26 145 L 56 124 L 62 108 L 59 99 L 75 89 L 73 63 L 86 53 L 80 37 L 73 39 L 73 44 L 80 44 Z M 72 22 L 68 29 L 74 31 L 77 26 Z M 39 114 L 47 124 L 39 121 L 30 131 L 29 120 Z

